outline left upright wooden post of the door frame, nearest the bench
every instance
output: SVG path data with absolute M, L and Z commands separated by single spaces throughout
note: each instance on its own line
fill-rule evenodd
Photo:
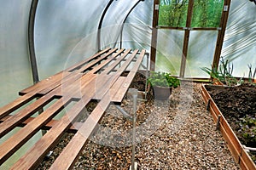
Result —
M 151 53 L 150 53 L 150 71 L 154 71 L 154 69 L 155 69 L 155 56 L 156 56 L 156 45 L 157 45 L 157 26 L 158 26 L 158 20 L 159 20 L 159 7 L 160 7 L 160 0 L 154 0 Z

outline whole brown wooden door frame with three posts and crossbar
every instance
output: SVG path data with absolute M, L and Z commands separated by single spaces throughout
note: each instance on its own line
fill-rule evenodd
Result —
M 154 14 L 153 14 L 153 32 L 152 32 L 152 40 L 151 40 L 151 55 L 150 55 L 150 61 L 151 65 L 150 68 L 152 71 L 154 71 L 155 67 L 155 57 L 156 57 L 156 46 L 157 46 L 157 30 L 158 29 L 170 29 L 170 30 L 180 30 L 185 31 L 184 39 L 183 39 L 183 56 L 181 61 L 181 67 L 180 67 L 180 74 L 179 77 L 183 78 L 185 74 L 185 67 L 186 67 L 186 58 L 188 54 L 188 48 L 189 48 L 189 34 L 190 31 L 218 31 L 218 39 L 216 42 L 216 48 L 215 48 L 215 54 L 213 56 L 212 60 L 212 67 L 218 67 L 218 62 L 224 42 L 224 34 L 227 26 L 228 16 L 230 12 L 230 3 L 231 0 L 224 0 L 224 10 L 222 14 L 222 18 L 220 20 L 220 25 L 218 28 L 190 28 L 191 25 L 191 18 L 193 13 L 193 4 L 194 0 L 189 0 L 189 8 L 188 8 L 188 15 L 187 15 L 187 22 L 186 22 L 186 28 L 183 27 L 173 27 L 173 26 L 158 26 L 158 20 L 159 20 L 159 8 L 158 10 L 155 10 L 155 6 L 160 4 L 160 0 L 154 0 Z

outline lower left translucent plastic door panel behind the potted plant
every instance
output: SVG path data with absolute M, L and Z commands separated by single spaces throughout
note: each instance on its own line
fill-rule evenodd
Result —
M 155 71 L 171 72 L 178 76 L 183 56 L 184 31 L 162 30 L 158 31 L 157 57 Z

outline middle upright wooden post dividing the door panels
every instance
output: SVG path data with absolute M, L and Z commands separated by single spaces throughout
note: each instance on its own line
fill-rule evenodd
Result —
M 190 36 L 190 26 L 191 26 L 192 14 L 193 14 L 193 6 L 194 6 L 194 0 L 189 0 L 187 22 L 186 22 L 186 27 L 184 28 L 185 35 L 184 35 L 184 41 L 183 41 L 183 55 L 182 55 L 182 61 L 180 66 L 180 72 L 179 72 L 179 77 L 182 77 L 182 78 L 185 75 L 185 69 L 186 69 L 186 59 L 187 59 L 188 49 L 189 49 L 189 36 Z

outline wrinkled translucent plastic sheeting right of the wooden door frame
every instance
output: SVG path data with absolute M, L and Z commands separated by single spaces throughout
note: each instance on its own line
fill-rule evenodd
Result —
M 248 66 L 256 68 L 256 5 L 233 0 L 221 56 L 233 64 L 235 77 L 248 77 Z

